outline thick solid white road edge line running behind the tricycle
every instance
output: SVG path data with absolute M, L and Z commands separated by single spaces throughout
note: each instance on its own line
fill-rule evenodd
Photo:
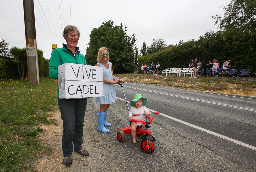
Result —
M 124 99 L 121 99 L 121 98 L 119 98 L 119 97 L 116 97 L 116 98 L 118 98 L 119 100 L 125 101 Z M 130 103 L 129 101 L 127 101 L 127 102 Z M 148 108 L 147 108 L 147 109 L 148 109 Z M 148 109 L 148 110 L 151 111 L 151 112 L 157 112 L 157 111 L 154 111 L 154 110 L 152 110 L 152 109 Z M 163 114 L 163 113 L 160 113 L 159 115 L 162 115 L 162 116 L 167 117 L 167 118 L 169 118 L 169 119 L 171 119 L 171 120 L 177 121 L 177 122 L 179 122 L 179 123 L 185 124 L 185 125 L 187 125 L 187 126 L 196 128 L 196 129 L 198 129 L 198 130 L 204 131 L 204 132 L 209 133 L 209 134 L 211 134 L 211 135 L 217 136 L 217 137 L 219 137 L 219 138 L 222 138 L 222 139 L 231 141 L 231 142 L 233 142 L 233 143 L 239 144 L 239 145 L 241 145 L 241 146 L 243 146 L 243 147 L 246 147 L 246 148 L 249 148 L 249 149 L 252 149 L 252 150 L 256 151 L 256 147 L 254 147 L 254 146 L 252 146 L 252 145 L 250 145 L 250 144 L 246 144 L 246 143 L 243 143 L 243 142 L 241 142 L 241 141 L 232 139 L 232 138 L 230 138 L 230 137 L 223 136 L 223 135 L 221 135 L 221 134 L 218 134 L 218 133 L 215 133 L 215 132 L 213 132 L 213 131 L 204 129 L 204 128 L 202 128 L 202 127 L 198 127 L 198 126 L 196 126 L 196 125 L 187 123 L 187 122 L 185 122 L 185 121 L 182 121 L 182 120 L 179 120 L 179 119 L 177 119 L 177 118 L 174 118 L 174 117 L 165 115 L 165 114 Z

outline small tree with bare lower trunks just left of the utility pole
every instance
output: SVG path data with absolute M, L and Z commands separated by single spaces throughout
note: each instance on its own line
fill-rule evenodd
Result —
M 20 79 L 25 79 L 28 77 L 27 68 L 27 49 L 18 48 L 16 46 L 11 47 L 10 53 L 14 56 L 17 61 L 17 69 L 19 72 Z M 26 72 L 26 75 L 25 75 Z

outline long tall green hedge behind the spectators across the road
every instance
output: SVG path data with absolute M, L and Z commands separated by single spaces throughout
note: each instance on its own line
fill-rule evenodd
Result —
M 198 58 L 202 67 L 214 59 L 220 65 L 228 58 L 231 59 L 231 68 L 251 69 L 256 72 L 256 32 L 235 28 L 224 32 L 207 32 L 198 40 L 189 40 L 171 45 L 163 51 L 138 58 L 138 67 L 141 64 L 155 64 L 159 62 L 161 69 L 182 67 L 188 68 L 189 62 Z

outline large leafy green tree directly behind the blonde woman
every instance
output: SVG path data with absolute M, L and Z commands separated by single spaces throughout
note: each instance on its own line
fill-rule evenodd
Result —
M 122 23 L 120 26 L 114 26 L 113 21 L 105 21 L 99 28 L 93 28 L 91 31 L 85 55 L 86 62 L 95 65 L 99 48 L 107 47 L 110 61 L 113 63 L 113 72 L 133 72 L 137 58 L 135 41 L 135 33 L 129 36 L 126 26 L 123 29 Z

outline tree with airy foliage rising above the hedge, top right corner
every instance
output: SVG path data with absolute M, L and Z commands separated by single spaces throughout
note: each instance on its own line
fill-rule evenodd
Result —
M 228 5 L 221 6 L 224 16 L 212 16 L 219 23 L 221 30 L 231 28 L 244 28 L 255 31 L 256 26 L 256 3 L 255 0 L 231 0 Z

